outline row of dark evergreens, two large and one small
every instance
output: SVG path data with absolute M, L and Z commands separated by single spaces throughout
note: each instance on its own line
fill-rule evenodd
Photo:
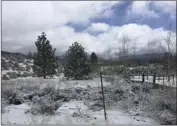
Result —
M 55 56 L 56 48 L 53 49 L 44 32 L 38 36 L 35 45 L 37 52 L 28 54 L 29 58 L 33 59 L 34 74 L 43 78 L 56 74 L 56 69 L 59 67 Z M 91 66 L 97 62 L 98 57 L 94 52 L 88 57 L 84 47 L 74 42 L 65 54 L 64 75 L 67 78 L 82 79 L 91 72 Z

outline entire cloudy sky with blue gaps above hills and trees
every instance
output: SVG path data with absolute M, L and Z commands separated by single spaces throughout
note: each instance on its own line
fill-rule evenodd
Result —
M 2 50 L 9 52 L 35 51 L 41 32 L 57 54 L 75 41 L 103 53 L 123 36 L 145 52 L 148 41 L 162 41 L 169 30 L 176 34 L 175 1 L 2 1 Z

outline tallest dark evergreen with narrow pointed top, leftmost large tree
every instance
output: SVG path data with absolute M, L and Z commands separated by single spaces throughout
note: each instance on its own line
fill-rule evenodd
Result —
M 37 47 L 37 53 L 34 53 L 34 73 L 37 74 L 37 76 L 43 76 L 44 78 L 46 78 L 47 75 L 55 74 L 56 49 L 52 49 L 50 41 L 47 40 L 46 34 L 44 32 L 42 32 L 41 36 L 38 36 L 35 45 Z

